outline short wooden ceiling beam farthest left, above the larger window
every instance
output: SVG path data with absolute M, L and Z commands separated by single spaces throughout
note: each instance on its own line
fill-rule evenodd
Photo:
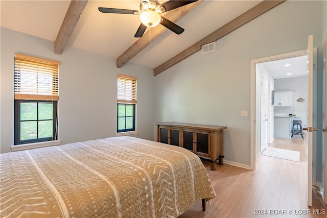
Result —
M 55 40 L 55 54 L 61 55 L 64 47 L 66 46 L 69 38 L 71 37 L 78 20 L 87 4 L 88 0 L 71 1 L 65 18 L 62 21 L 60 30 Z

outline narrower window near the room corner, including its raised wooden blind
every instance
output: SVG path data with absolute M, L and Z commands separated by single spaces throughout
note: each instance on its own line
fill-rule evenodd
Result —
M 137 78 L 118 75 L 117 78 L 117 132 L 135 130 Z

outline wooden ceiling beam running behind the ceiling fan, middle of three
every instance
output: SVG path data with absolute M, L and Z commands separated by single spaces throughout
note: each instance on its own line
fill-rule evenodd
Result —
M 203 0 L 200 0 L 198 2 L 194 2 L 192 4 L 185 5 L 183 7 L 168 11 L 164 15 L 164 17 L 172 22 L 177 22 L 183 16 L 185 16 L 190 11 L 192 11 L 196 6 L 198 6 L 202 1 Z M 168 29 L 166 27 L 162 25 L 158 25 L 151 29 L 151 34 L 150 31 L 145 32 L 141 38 L 137 39 L 122 55 L 120 55 L 116 59 L 116 66 L 118 68 L 124 66 L 129 60 L 131 60 L 139 52 L 145 49 L 145 47 L 148 46 L 150 42 L 153 42 L 155 39 L 157 39 L 162 33 L 166 32 L 167 30 Z M 151 39 L 149 40 L 150 37 Z

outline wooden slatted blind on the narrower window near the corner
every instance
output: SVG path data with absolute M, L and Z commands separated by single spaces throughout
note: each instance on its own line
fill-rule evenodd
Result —
M 118 74 L 117 102 L 136 104 L 136 77 Z

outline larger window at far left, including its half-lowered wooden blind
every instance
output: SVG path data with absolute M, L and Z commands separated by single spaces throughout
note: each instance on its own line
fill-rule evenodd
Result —
M 15 55 L 15 144 L 57 139 L 59 65 L 57 61 Z

